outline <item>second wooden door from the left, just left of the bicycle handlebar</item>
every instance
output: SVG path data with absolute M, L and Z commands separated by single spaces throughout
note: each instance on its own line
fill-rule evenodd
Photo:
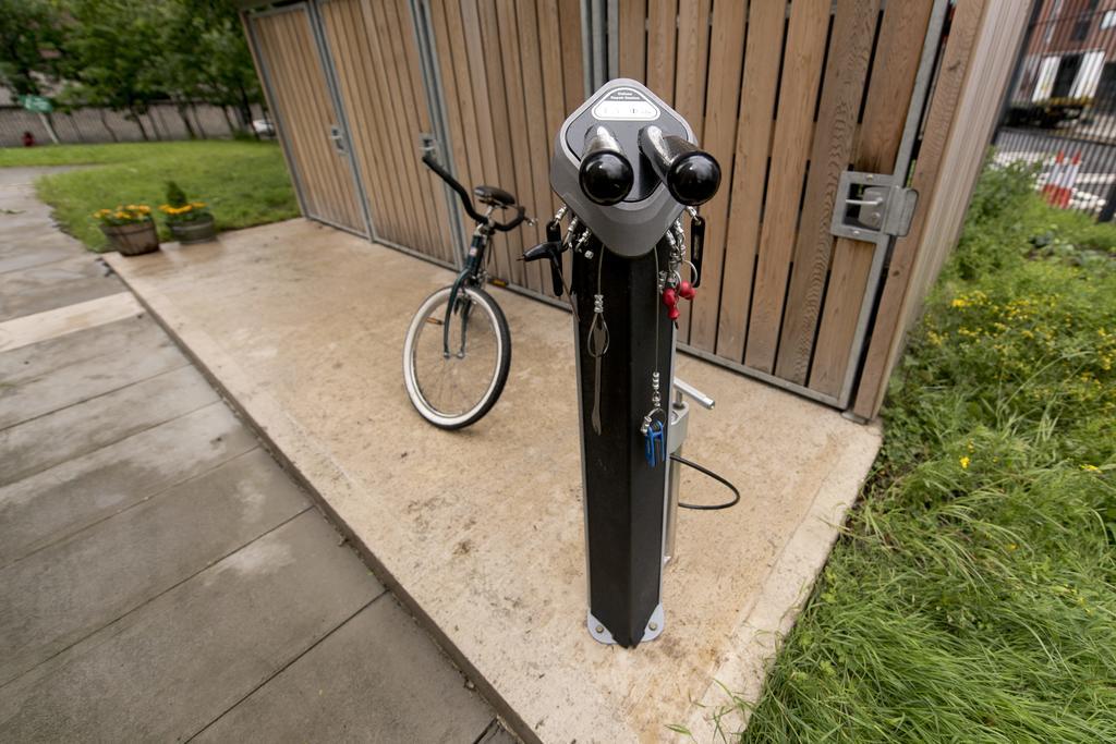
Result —
M 321 0 L 318 11 L 374 238 L 452 264 L 442 182 L 419 147 L 431 120 L 407 0 Z

